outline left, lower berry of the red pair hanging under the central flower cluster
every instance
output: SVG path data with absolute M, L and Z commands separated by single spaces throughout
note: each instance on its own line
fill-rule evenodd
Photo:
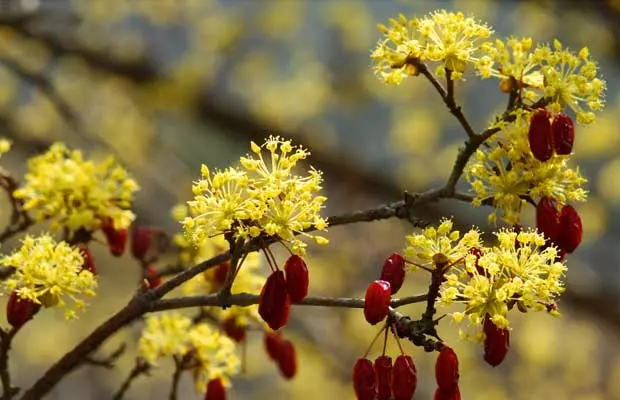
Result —
M 291 300 L 286 290 L 284 272 L 275 271 L 265 281 L 260 293 L 258 313 L 274 331 L 282 328 L 288 321 Z

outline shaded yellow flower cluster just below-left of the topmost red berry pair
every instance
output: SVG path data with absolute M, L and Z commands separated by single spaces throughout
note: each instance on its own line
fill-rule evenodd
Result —
M 473 204 L 479 206 L 493 199 L 490 222 L 495 223 L 499 213 L 505 222 L 517 224 L 527 197 L 537 200 L 548 196 L 560 204 L 585 201 L 587 193 L 582 185 L 587 180 L 579 169 L 569 167 L 567 156 L 537 160 L 528 142 L 531 112 L 517 110 L 514 116 L 515 121 L 503 123 L 501 133 L 487 142 L 488 148 L 479 149 L 465 169 L 465 177 L 476 193 Z

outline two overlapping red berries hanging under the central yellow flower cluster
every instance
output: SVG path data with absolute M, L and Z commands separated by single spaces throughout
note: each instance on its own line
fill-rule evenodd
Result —
M 277 331 L 288 322 L 291 302 L 302 301 L 308 295 L 308 267 L 298 255 L 286 260 L 284 271 L 275 262 L 270 265 L 273 272 L 261 289 L 258 313 Z

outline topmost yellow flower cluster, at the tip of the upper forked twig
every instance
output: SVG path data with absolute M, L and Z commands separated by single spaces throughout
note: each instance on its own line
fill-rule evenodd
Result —
M 461 79 L 468 63 L 478 61 L 478 41 L 493 32 L 462 13 L 435 11 L 420 19 L 399 15 L 390 19 L 390 27 L 379 25 L 385 36 L 371 54 L 375 73 L 387 83 L 400 84 L 404 77 L 417 75 L 414 60 L 440 63 L 436 73 L 452 71 L 452 79 Z

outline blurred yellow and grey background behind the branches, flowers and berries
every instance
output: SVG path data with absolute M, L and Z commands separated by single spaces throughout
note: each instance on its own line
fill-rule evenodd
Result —
M 591 194 L 578 205 L 584 243 L 569 259 L 563 317 L 515 313 L 511 351 L 495 369 L 482 361 L 481 346 L 458 342 L 456 326 L 442 324 L 440 335 L 461 361 L 463 398 L 620 399 L 618 0 L 0 0 L 0 136 L 14 143 L 3 167 L 20 177 L 27 157 L 57 140 L 93 157 L 112 153 L 142 187 L 139 221 L 171 234 L 179 225 L 170 208 L 189 198 L 200 164 L 225 167 L 248 151 L 249 140 L 269 134 L 310 148 L 311 164 L 325 172 L 325 215 L 436 187 L 465 134 L 428 82 L 386 86 L 373 75 L 369 54 L 377 23 L 439 8 L 473 13 L 499 37 L 587 45 L 608 82 L 604 113 L 577 128 L 574 160 Z M 473 76 L 457 85 L 478 130 L 505 104 L 495 85 Z M 436 222 L 454 215 L 461 227 L 490 231 L 488 211 L 442 201 L 419 208 L 419 217 Z M 528 210 L 522 222 L 532 221 Z M 311 293 L 363 297 L 411 231 L 396 220 L 331 229 L 331 244 L 309 252 Z M 140 273 L 135 262 L 114 259 L 103 246 L 95 257 L 100 293 L 88 311 L 74 322 L 46 311 L 16 338 L 17 385 L 29 386 L 132 295 Z M 425 275 L 412 274 L 401 293 L 421 293 L 426 284 Z M 416 318 L 422 306 L 402 311 Z M 101 354 L 129 346 L 114 369 L 83 367 L 49 398 L 111 398 L 133 365 L 140 330 L 136 323 L 104 346 Z M 361 310 L 294 307 L 285 335 L 299 353 L 298 376 L 284 381 L 264 353 L 262 335 L 250 334 L 247 372 L 234 379 L 230 398 L 353 399 L 351 367 L 376 331 Z M 418 369 L 416 399 L 432 398 L 434 355 L 404 348 Z M 390 352 L 397 355 L 395 343 Z M 126 398 L 167 398 L 171 370 L 171 362 L 162 362 Z M 183 399 L 203 396 L 189 375 L 181 392 Z

